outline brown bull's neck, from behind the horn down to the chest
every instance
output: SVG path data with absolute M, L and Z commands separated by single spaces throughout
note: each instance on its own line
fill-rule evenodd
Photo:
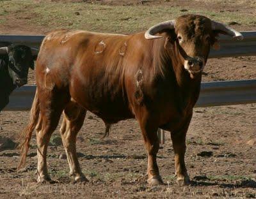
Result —
M 193 107 L 198 99 L 202 75 L 191 78 L 180 59 L 179 50 L 175 44 L 166 47 L 166 41 L 157 41 L 158 50 L 155 64 L 156 71 L 164 82 L 177 87 L 177 96 L 182 99 L 182 107 Z M 188 104 L 189 103 L 189 104 Z

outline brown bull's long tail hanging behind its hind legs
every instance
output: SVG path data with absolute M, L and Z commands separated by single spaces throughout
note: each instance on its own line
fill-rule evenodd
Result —
M 40 112 L 40 108 L 39 108 L 39 100 L 38 100 L 38 91 L 36 89 L 35 98 L 30 110 L 30 119 L 29 119 L 28 126 L 26 126 L 26 128 L 22 131 L 20 135 L 21 144 L 19 145 L 19 147 L 21 150 L 20 150 L 20 163 L 17 167 L 18 170 L 24 167 L 25 165 L 26 156 L 28 154 L 28 149 L 29 149 L 29 142 L 31 140 L 31 136 L 35 129 L 35 126 L 38 122 L 39 112 Z

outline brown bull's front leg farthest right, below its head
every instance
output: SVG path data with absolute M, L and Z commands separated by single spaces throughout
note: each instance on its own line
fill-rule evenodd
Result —
M 175 154 L 175 175 L 177 183 L 182 185 L 189 184 L 189 176 L 185 165 L 185 152 L 186 152 L 186 134 L 191 121 L 192 114 L 182 123 L 177 130 L 171 131 L 173 150 Z

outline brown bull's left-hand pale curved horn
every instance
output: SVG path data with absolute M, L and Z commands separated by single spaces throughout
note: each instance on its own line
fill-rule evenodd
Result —
M 163 31 L 163 29 L 174 29 L 174 28 L 175 28 L 175 20 L 168 20 L 166 22 L 161 22 L 159 24 L 156 24 L 155 26 L 150 27 L 145 33 L 145 38 L 147 40 L 162 38 L 162 36 L 155 36 L 154 34 L 157 34 Z

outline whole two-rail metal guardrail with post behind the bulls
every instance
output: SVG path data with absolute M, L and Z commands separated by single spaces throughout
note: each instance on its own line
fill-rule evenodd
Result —
M 241 33 L 244 36 L 242 41 L 234 41 L 229 36 L 221 35 L 219 38 L 220 50 L 211 50 L 209 58 L 256 55 L 256 32 Z M 0 35 L 0 47 L 6 43 L 14 43 L 39 48 L 43 39 L 44 36 Z M 29 110 L 34 95 L 35 86 L 24 86 L 16 89 L 10 96 L 10 103 L 4 110 Z M 256 80 L 202 83 L 196 107 L 242 103 L 256 103 Z M 163 130 L 159 129 L 158 137 L 160 142 L 164 143 Z

